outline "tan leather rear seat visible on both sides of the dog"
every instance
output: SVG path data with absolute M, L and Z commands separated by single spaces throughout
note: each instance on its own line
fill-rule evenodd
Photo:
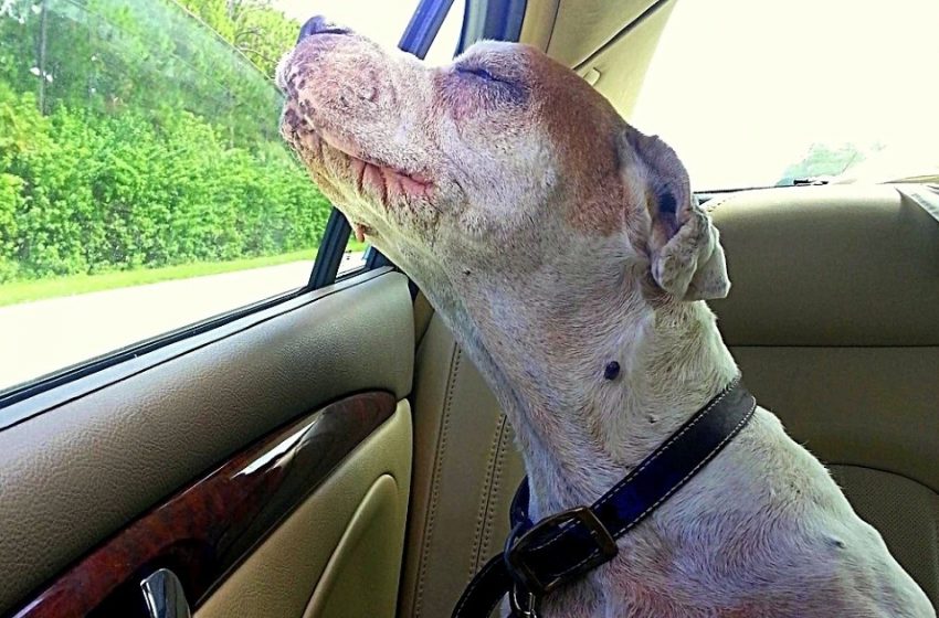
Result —
M 715 220 L 734 287 L 711 305 L 747 385 L 832 465 L 935 604 L 939 223 L 887 187 L 740 193 Z M 414 395 L 399 615 L 446 616 L 498 551 L 523 472 L 496 403 L 436 317 Z

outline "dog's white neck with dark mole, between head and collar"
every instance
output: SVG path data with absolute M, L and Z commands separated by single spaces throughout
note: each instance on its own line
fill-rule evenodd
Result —
M 597 500 L 737 373 L 704 302 L 651 301 L 645 262 L 578 253 L 415 274 L 511 423 L 535 516 Z

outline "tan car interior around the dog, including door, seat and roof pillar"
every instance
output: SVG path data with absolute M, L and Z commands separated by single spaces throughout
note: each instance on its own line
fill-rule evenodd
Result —
M 539 47 L 629 119 L 676 3 L 471 1 L 464 44 Z M 699 199 L 732 281 L 709 305 L 748 388 L 939 606 L 927 194 L 829 183 Z M 407 274 L 372 255 L 337 277 L 344 224 L 315 285 L 2 393 L 0 616 L 170 615 L 155 612 L 160 595 L 198 618 L 450 615 L 502 550 L 523 464 Z

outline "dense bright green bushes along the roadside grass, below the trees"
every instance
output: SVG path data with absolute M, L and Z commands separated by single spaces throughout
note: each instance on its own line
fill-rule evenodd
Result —
M 29 95 L 4 103 L 31 131 L 4 149 L 0 169 L 0 277 L 235 259 L 319 243 L 329 204 L 279 147 L 229 147 L 187 111 L 157 129 L 133 109 L 59 106 L 42 118 Z

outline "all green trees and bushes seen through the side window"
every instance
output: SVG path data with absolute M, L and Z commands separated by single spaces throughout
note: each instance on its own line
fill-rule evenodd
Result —
M 243 2 L 187 4 L 238 35 Z M 219 34 L 169 0 L 0 10 L 0 281 L 318 244 L 329 204 L 281 145 L 279 94 Z

